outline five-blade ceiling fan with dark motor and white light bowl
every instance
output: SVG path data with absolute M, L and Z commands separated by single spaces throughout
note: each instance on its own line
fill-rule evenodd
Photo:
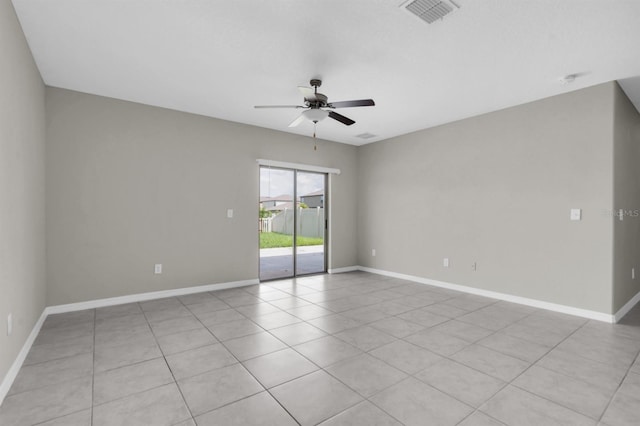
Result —
M 312 79 L 309 84 L 312 87 L 298 86 L 298 90 L 304 96 L 304 106 L 302 105 L 256 105 L 254 108 L 302 108 L 302 114 L 291 124 L 289 127 L 296 127 L 302 123 L 305 119 L 313 122 L 322 121 L 327 117 L 331 117 L 334 120 L 341 122 L 347 126 L 351 126 L 355 123 L 349 117 L 345 117 L 342 114 L 338 114 L 332 111 L 336 108 L 352 108 L 358 106 L 374 106 L 373 99 L 359 99 L 355 101 L 341 101 L 341 102 L 329 102 L 329 98 L 322 93 L 318 93 L 318 87 L 322 85 L 322 81 L 318 79 Z

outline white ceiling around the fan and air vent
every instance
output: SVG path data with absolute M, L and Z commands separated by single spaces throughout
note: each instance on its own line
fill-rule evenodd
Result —
M 403 0 L 13 3 L 50 86 L 309 136 L 287 127 L 300 111 L 253 105 L 301 104 L 318 77 L 330 101 L 376 101 L 318 124 L 354 145 L 611 80 L 640 106 L 638 0 L 458 0 L 432 25 Z

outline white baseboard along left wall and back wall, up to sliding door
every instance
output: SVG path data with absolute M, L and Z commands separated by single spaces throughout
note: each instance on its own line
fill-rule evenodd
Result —
M 0 405 L 2 404 L 2 401 L 4 401 L 4 398 L 7 396 L 7 393 L 9 393 L 9 389 L 11 388 L 13 381 L 16 379 L 20 368 L 22 368 L 22 364 L 24 363 L 29 350 L 31 350 L 31 346 L 36 340 L 42 324 L 44 323 L 45 319 L 47 319 L 47 316 L 51 314 L 61 314 L 65 312 L 83 311 L 85 309 L 103 308 L 105 306 L 121 305 L 123 303 L 144 302 L 146 300 L 161 299 L 164 297 L 184 296 L 187 294 L 201 293 L 203 291 L 225 290 L 228 288 L 245 287 L 248 285 L 259 283 L 260 281 L 255 278 L 244 281 L 232 281 L 227 283 L 208 284 L 196 287 L 177 288 L 173 290 L 153 291 L 150 293 L 130 294 L 127 296 L 89 300 L 86 302 L 69 303 L 66 305 L 47 306 L 42 311 L 42 314 L 40 315 L 40 318 L 38 319 L 36 324 L 33 326 L 29 337 L 27 338 L 26 342 L 24 342 L 20 353 L 16 357 L 15 361 L 11 365 L 11 368 L 0 384 Z

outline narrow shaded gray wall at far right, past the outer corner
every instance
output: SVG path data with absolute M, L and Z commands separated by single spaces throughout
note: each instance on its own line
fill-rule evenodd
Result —
M 613 310 L 640 292 L 640 115 L 615 85 Z M 635 279 L 631 277 L 635 268 Z

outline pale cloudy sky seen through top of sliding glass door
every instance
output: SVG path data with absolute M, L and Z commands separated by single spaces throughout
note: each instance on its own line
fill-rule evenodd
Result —
M 293 171 L 283 169 L 260 168 L 260 196 L 293 195 Z M 324 174 L 298 172 L 298 197 L 323 189 Z

